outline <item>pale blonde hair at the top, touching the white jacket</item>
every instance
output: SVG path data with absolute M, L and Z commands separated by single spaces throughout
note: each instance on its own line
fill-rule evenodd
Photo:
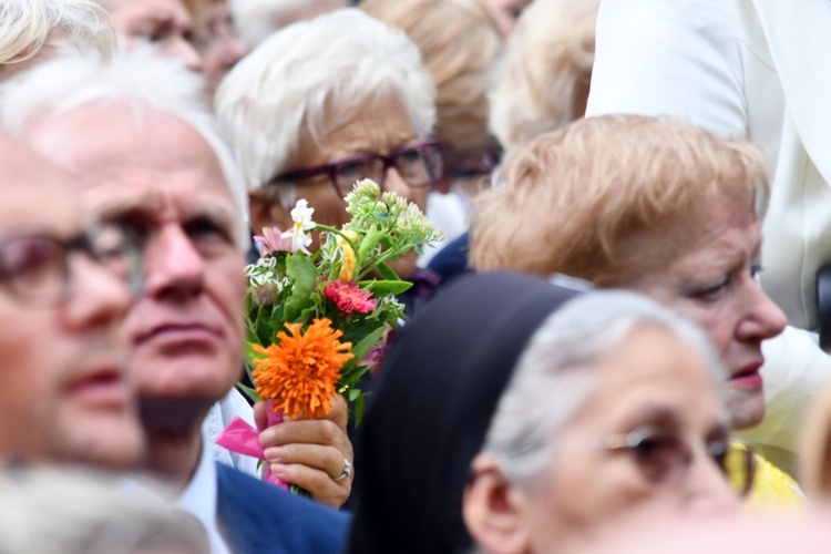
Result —
M 506 150 L 586 110 L 599 0 L 535 0 L 496 64 L 491 131 Z

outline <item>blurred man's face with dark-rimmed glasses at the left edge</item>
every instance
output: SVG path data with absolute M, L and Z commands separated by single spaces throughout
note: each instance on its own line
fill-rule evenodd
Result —
M 0 456 L 124 468 L 144 440 L 119 326 L 136 250 L 0 135 Z M 44 202 L 49 198 L 49 202 Z

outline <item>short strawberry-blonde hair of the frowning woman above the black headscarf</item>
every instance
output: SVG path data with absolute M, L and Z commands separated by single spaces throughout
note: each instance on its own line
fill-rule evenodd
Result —
M 504 186 L 474 203 L 471 264 L 598 286 L 622 286 L 658 263 L 655 248 L 669 246 L 670 232 L 706 224 L 694 217 L 708 202 L 747 199 L 761 215 L 768 195 L 757 147 L 638 115 L 541 135 L 510 154 L 503 172 Z

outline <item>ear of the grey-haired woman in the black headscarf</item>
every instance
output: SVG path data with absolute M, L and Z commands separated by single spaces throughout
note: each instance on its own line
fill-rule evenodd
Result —
M 525 495 L 507 482 L 489 454 L 473 459 L 462 511 L 468 532 L 482 551 L 489 554 L 531 551 Z

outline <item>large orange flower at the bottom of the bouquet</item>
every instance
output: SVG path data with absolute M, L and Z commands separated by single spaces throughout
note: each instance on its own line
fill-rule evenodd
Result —
M 267 356 L 254 361 L 254 384 L 259 398 L 275 400 L 275 411 L 317 419 L 331 410 L 340 368 L 352 359 L 352 343 L 338 340 L 343 334 L 332 329 L 329 319 L 315 319 L 306 334 L 300 324 L 286 328 L 291 335 L 278 332 L 279 345 L 254 345 L 255 351 Z

